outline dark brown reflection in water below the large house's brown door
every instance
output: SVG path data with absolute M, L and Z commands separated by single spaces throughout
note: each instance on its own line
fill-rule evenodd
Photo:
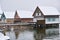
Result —
M 35 40 L 42 40 L 45 35 L 44 31 L 45 31 L 44 29 L 37 28 L 36 32 L 34 33 Z

